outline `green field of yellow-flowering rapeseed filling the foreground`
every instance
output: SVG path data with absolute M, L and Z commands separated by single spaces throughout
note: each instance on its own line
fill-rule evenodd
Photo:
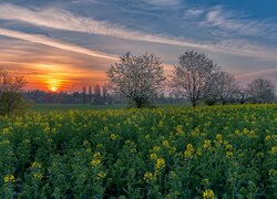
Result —
M 277 198 L 277 105 L 0 118 L 0 198 Z

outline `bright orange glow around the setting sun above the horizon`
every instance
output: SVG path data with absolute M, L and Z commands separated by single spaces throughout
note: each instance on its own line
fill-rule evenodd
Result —
M 1 62 L 0 62 L 1 63 Z M 73 92 L 82 91 L 83 86 L 103 85 L 105 83 L 104 71 L 79 69 L 66 64 L 25 64 L 19 66 L 18 75 L 27 80 L 25 90 L 42 90 L 45 92 Z

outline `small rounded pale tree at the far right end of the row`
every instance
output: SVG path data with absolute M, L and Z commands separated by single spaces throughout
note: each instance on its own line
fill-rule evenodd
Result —
M 248 85 L 248 95 L 254 103 L 268 103 L 275 98 L 275 88 L 269 80 L 256 78 Z

